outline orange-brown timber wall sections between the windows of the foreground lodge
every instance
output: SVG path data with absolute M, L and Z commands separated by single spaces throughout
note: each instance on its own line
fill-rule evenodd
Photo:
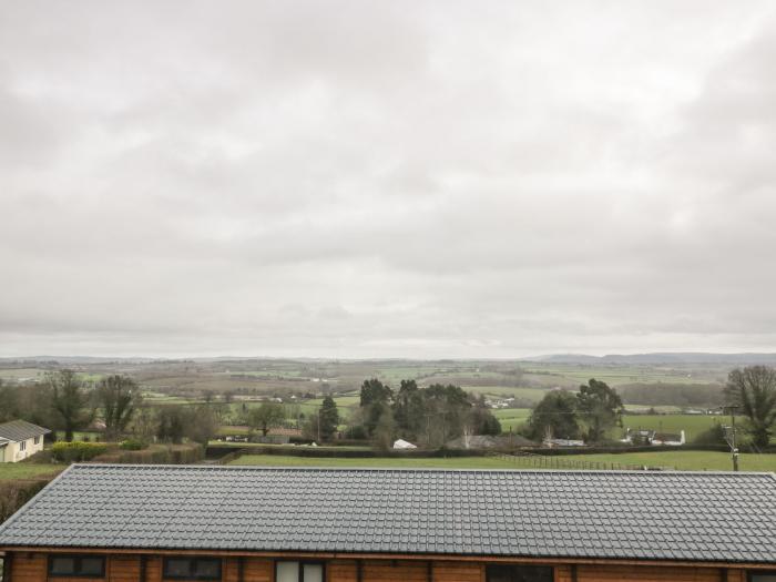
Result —
M 48 555 L 39 552 L 13 552 L 12 554 L 9 552 L 6 564 L 3 582 L 99 582 L 100 580 L 49 576 Z M 237 558 L 224 558 L 222 582 L 274 582 L 274 562 L 269 559 L 244 558 L 242 581 L 239 569 Z M 142 570 L 139 555 L 109 554 L 104 580 L 106 582 L 164 582 L 161 557 L 145 558 L 144 581 Z M 719 568 L 579 564 L 557 565 L 554 572 L 554 582 L 616 582 L 619 580 L 746 582 L 745 571 Z M 429 572 L 428 562 L 425 561 L 361 561 L 361 582 L 429 582 L 429 573 L 431 582 L 486 582 L 484 563 L 435 561 Z M 358 582 L 358 563 L 355 560 L 327 561 L 326 582 Z

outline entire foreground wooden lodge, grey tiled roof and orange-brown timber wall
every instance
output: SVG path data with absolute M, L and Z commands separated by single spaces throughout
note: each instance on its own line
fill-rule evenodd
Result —
M 773 582 L 776 476 L 75 464 L 4 582 Z

